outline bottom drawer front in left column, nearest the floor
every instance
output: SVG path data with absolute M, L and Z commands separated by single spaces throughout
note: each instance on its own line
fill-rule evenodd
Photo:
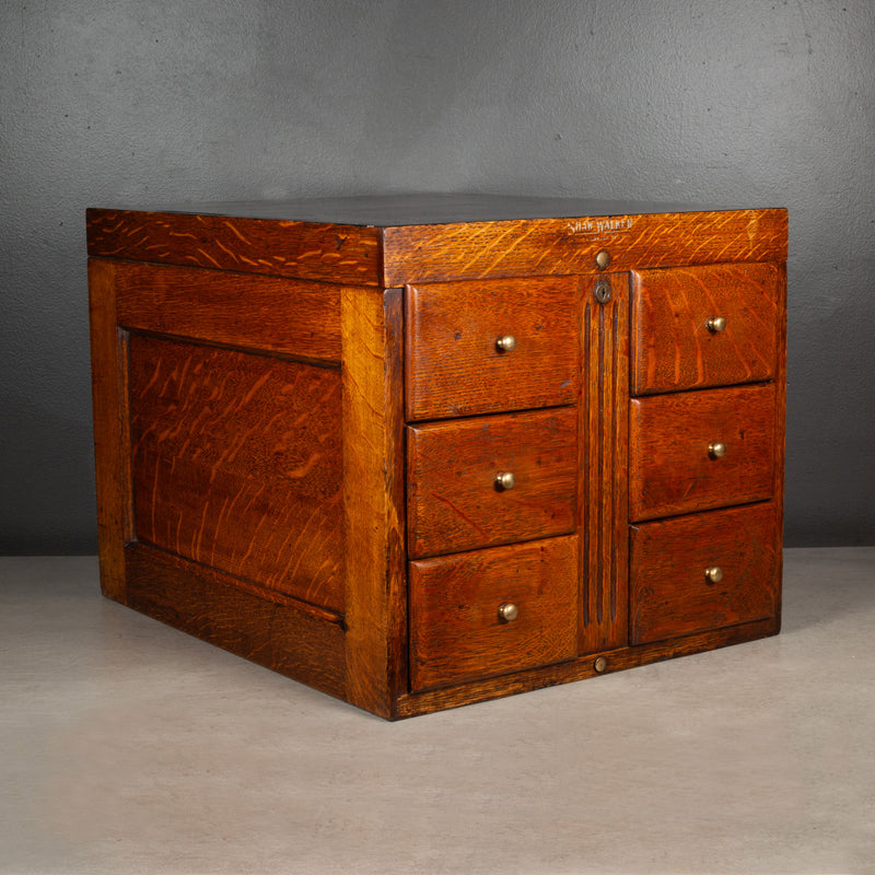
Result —
M 573 658 L 576 580 L 575 536 L 411 562 L 412 689 Z

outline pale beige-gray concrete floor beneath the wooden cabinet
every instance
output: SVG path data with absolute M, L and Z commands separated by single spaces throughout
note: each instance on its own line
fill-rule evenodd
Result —
M 2 873 L 875 873 L 875 548 L 774 639 L 386 723 L 0 559 Z

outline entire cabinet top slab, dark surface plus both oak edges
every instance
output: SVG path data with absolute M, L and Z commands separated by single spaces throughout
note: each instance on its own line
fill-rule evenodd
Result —
M 389 195 L 88 211 L 89 254 L 352 285 L 786 260 L 784 209 Z

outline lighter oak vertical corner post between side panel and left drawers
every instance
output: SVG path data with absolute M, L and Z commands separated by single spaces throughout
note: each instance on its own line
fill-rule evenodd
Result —
M 407 688 L 402 299 L 341 293 L 347 695 L 392 718 Z

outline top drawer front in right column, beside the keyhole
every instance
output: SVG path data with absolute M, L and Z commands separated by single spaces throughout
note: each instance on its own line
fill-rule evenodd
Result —
M 632 277 L 633 395 L 774 375 L 780 322 L 774 265 L 642 270 Z M 709 328 L 709 319 L 724 323 Z

